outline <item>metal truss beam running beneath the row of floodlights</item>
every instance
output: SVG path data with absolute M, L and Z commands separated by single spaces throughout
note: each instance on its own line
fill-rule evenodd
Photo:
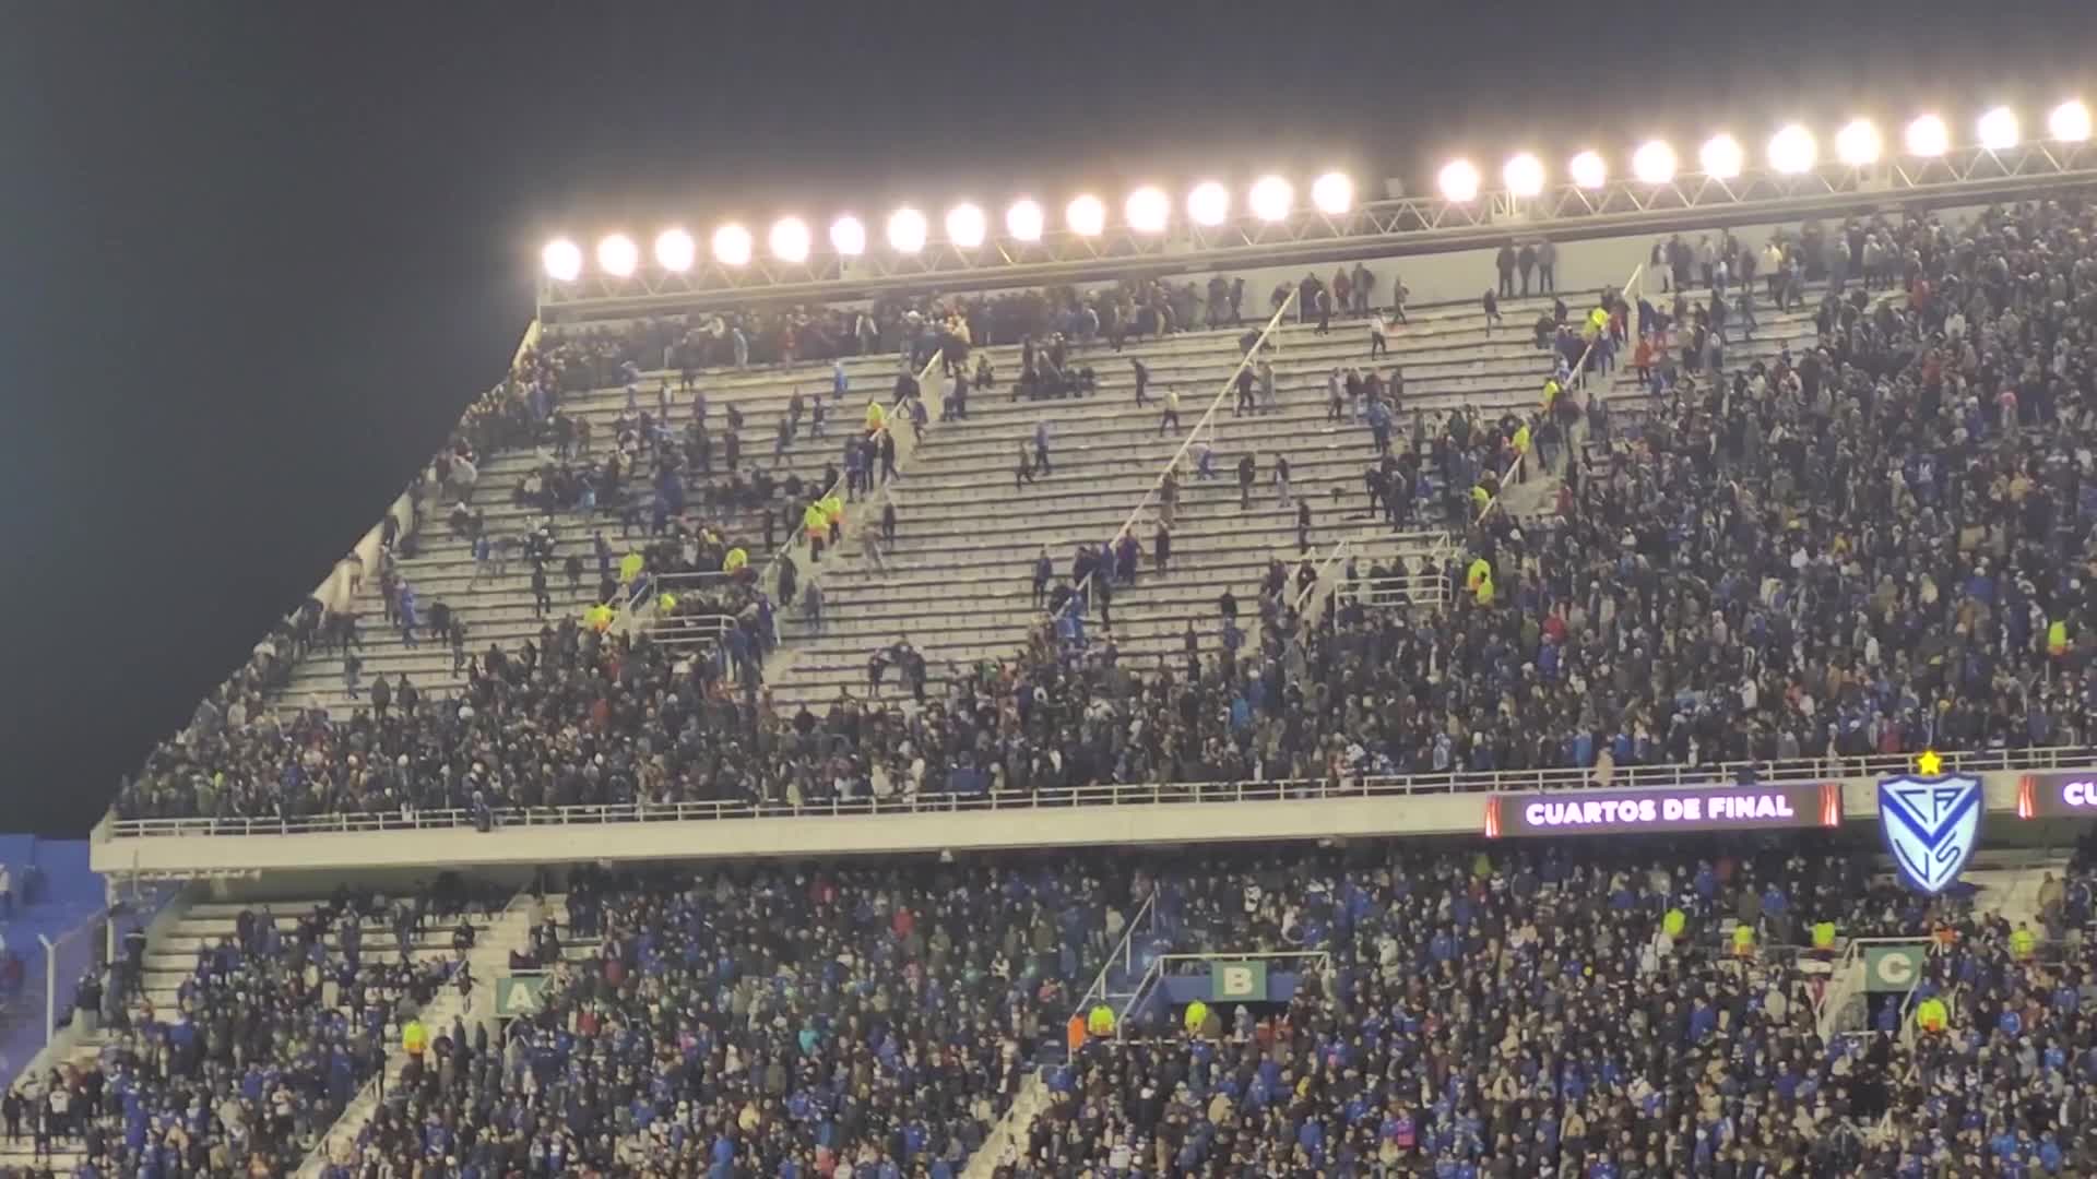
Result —
M 870 248 L 807 262 L 753 256 L 744 266 L 700 258 L 686 273 L 644 266 L 627 279 L 589 273 L 539 279 L 541 321 L 665 315 L 751 302 L 845 300 L 879 292 L 996 290 L 1051 281 L 1097 281 L 1141 271 L 1325 262 L 1346 256 L 1409 254 L 1480 245 L 1508 233 L 1564 237 L 1713 227 L 1747 216 L 1835 216 L 1898 203 L 2011 199 L 2024 191 L 2097 183 L 2097 147 L 2026 143 L 2005 151 L 1954 149 L 1942 157 L 1894 157 L 1856 168 L 1820 164 L 1785 174 L 1747 168 L 1717 178 L 1684 172 L 1663 185 L 1636 178 L 1596 189 L 1571 183 L 1535 197 L 1508 191 L 1472 201 L 1401 197 L 1344 214 L 1296 210 L 1281 220 L 1237 218 L 1218 227 L 1176 222 L 1166 233 L 1109 227 L 1086 237 L 1044 233 L 1040 241 L 988 239 L 975 250 L 927 241 L 916 254 Z

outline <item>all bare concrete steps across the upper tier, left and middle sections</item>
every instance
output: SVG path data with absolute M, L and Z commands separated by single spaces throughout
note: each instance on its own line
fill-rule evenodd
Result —
M 1585 296 L 1579 296 L 1585 298 Z M 1579 298 L 1569 298 L 1579 304 Z M 1392 365 L 1405 369 L 1405 413 L 1397 424 L 1409 430 L 1411 413 L 1439 413 L 1455 405 L 1497 413 L 1535 403 L 1548 352 L 1533 346 L 1527 321 L 1550 306 L 1543 298 L 1508 300 L 1506 323 L 1487 331 L 1483 315 L 1472 304 L 1418 308 L 1407 325 L 1390 334 L 1390 352 L 1376 361 L 1378 371 Z M 1764 313 L 1755 344 L 1736 346 L 1734 361 L 1774 355 L 1778 344 L 1801 344 L 1812 338 L 1812 321 L 1803 313 Z M 1202 329 L 1166 338 L 1132 342 L 1122 352 L 1103 342 L 1072 350 L 1074 365 L 1095 369 L 1099 388 L 1084 399 L 1051 399 L 1015 403 L 1011 376 L 1019 367 L 1017 348 L 988 348 L 1000 382 L 969 399 L 967 422 L 933 422 L 925 445 L 904 478 L 879 487 L 877 495 L 893 497 L 900 529 L 889 552 L 887 571 L 864 569 L 866 560 L 853 537 L 841 550 L 824 554 L 820 564 L 803 562 L 803 583 L 820 575 L 826 594 L 826 625 L 822 634 L 782 610 L 782 636 L 793 644 L 793 659 L 774 684 L 774 696 L 793 701 L 828 701 L 839 688 L 864 688 L 866 657 L 874 646 L 910 636 L 937 678 L 948 663 L 998 659 L 1021 640 L 1034 617 L 1028 573 L 1034 554 L 1048 545 L 1059 571 L 1067 571 L 1069 548 L 1080 539 L 1105 539 L 1141 501 L 1166 459 L 1187 436 L 1210 399 L 1225 384 L 1239 359 L 1239 338 L 1246 329 Z M 1271 483 L 1273 455 L 1288 455 L 1292 491 L 1313 497 L 1313 550 L 1357 531 L 1365 520 L 1361 472 L 1369 459 L 1367 428 L 1357 422 L 1325 422 L 1325 378 L 1334 367 L 1367 367 L 1367 329 L 1361 319 L 1336 321 L 1332 334 L 1319 336 L 1315 325 L 1285 323 L 1275 334 L 1277 409 L 1252 417 L 1233 417 L 1229 405 L 1210 432 L 1214 447 L 1214 478 L 1189 478 L 1183 485 L 1179 522 L 1174 527 L 1174 571 L 1149 579 L 1141 594 L 1124 592 L 1116 600 L 1116 642 L 1124 652 L 1160 657 L 1179 650 L 1179 634 L 1189 617 L 1208 619 L 1210 606 L 1225 585 L 1250 596 L 1264 573 L 1269 556 L 1294 560 L 1296 516 L 1283 508 Z M 983 352 L 983 348 L 979 348 Z M 1132 403 L 1130 359 L 1141 359 L 1151 371 L 1151 405 Z M 826 396 L 830 365 L 774 365 L 751 371 L 705 371 L 698 386 L 709 399 L 709 424 L 719 438 L 730 405 L 744 415 L 744 470 L 765 466 L 774 476 L 799 474 L 805 483 L 820 480 L 824 464 L 841 464 L 841 443 L 864 413 L 870 396 L 887 396 L 893 388 L 898 359 L 893 355 L 856 357 L 845 363 L 851 392 L 830 403 L 830 424 L 824 441 L 801 436 L 772 462 L 772 438 L 784 413 L 786 399 L 799 388 L 805 396 Z M 671 373 L 644 373 L 637 403 L 654 411 L 654 390 Z M 1181 392 L 1181 424 L 1172 434 L 1160 434 L 1158 399 L 1168 388 Z M 1610 386 L 1613 396 L 1636 396 L 1623 373 Z M 591 424 L 602 453 L 612 436 L 612 420 L 625 407 L 625 388 L 568 394 L 564 409 Z M 937 413 L 937 405 L 929 407 Z M 682 430 L 690 417 L 690 396 L 673 394 L 673 424 Z M 1019 493 L 1004 493 L 1015 480 L 1021 443 L 1030 443 L 1036 422 L 1051 424 L 1053 474 Z M 719 451 L 719 441 L 715 443 Z M 1244 449 L 1258 451 L 1260 485 L 1252 508 L 1235 503 L 1233 464 Z M 497 537 L 522 537 L 541 518 L 539 512 L 512 501 L 516 485 L 539 464 L 545 451 L 514 451 L 484 455 L 474 491 L 474 506 L 487 514 Z M 719 457 L 717 457 L 719 470 Z M 1338 499 L 1334 495 L 1338 493 Z M 432 493 L 434 495 L 434 493 Z M 698 497 L 694 495 L 694 501 Z M 474 585 L 474 562 L 463 539 L 451 537 L 445 514 L 449 503 L 426 503 L 417 535 L 417 554 L 398 560 L 401 575 L 415 585 L 419 608 L 428 615 L 432 602 L 445 602 L 468 625 L 468 655 L 484 652 L 489 644 L 514 648 L 537 636 L 543 621 L 531 600 L 531 569 L 510 560 L 503 577 Z M 1355 516 L 1348 520 L 1348 516 Z M 715 514 L 717 527 L 732 539 L 742 539 L 761 554 L 759 522 L 742 512 Z M 614 552 L 629 543 L 619 535 L 617 516 L 600 514 L 583 520 L 575 514 L 554 516 L 556 564 L 549 566 L 554 617 L 575 617 L 596 590 L 598 571 L 589 556 L 591 533 L 602 529 Z M 780 527 L 786 535 L 786 527 Z M 1149 569 L 1149 535 L 1143 527 L 1145 571 Z M 558 571 L 566 554 L 583 554 L 581 587 L 570 592 Z M 761 556 L 759 556 L 761 560 Z M 954 594 L 952 590 L 960 590 Z M 1126 604 L 1124 604 L 1126 602 Z M 442 642 L 421 640 L 417 648 L 401 642 L 384 623 L 375 577 L 359 596 L 363 617 L 363 686 L 377 676 L 407 673 L 424 692 L 438 696 L 455 692 L 463 676 L 453 671 L 453 655 Z M 279 705 L 325 707 L 348 715 L 361 707 L 342 682 L 342 659 L 331 652 L 308 655 L 294 669 Z

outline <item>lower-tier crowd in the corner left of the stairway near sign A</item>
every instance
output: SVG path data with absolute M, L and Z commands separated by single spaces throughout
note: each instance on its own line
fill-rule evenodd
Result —
M 197 946 L 172 1007 L 155 1005 L 132 929 L 73 1001 L 99 1055 L 17 1080 L 0 1108 L 8 1141 L 78 1154 L 88 1177 L 289 1175 L 398 1028 L 440 986 L 472 984 L 463 952 L 411 950 L 426 923 L 476 910 L 457 881 L 392 902 L 342 889 L 296 919 L 243 908 L 233 934 Z

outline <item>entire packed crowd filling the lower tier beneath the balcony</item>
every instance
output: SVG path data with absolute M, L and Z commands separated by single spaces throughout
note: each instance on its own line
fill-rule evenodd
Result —
M 518 967 L 537 1007 L 421 1028 L 442 906 L 338 896 L 201 946 L 180 1011 L 143 942 L 82 1003 L 88 1068 L 0 1122 L 99 1175 L 2087 1175 L 2097 856 L 2032 923 L 1873 879 L 1835 835 L 577 869 Z M 1145 902 L 1151 902 L 1149 908 Z M 466 925 L 463 944 L 472 942 Z M 1134 946 L 1271 955 L 1264 996 L 1084 980 Z M 1841 938 L 1927 944 L 1912 992 L 1822 1022 Z M 384 940 L 384 936 L 377 936 Z M 459 942 L 455 942 L 459 944 Z M 1206 961 L 1197 961 L 1206 967 Z M 1155 976 L 1153 976 L 1155 978 Z M 367 1122 L 331 1118 L 401 1043 Z M 1044 1099 L 998 1120 L 1030 1072 Z

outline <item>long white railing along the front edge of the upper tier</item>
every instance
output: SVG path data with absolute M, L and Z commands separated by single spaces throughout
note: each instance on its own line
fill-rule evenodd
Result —
M 2097 749 L 2059 745 L 2042 749 L 1975 749 L 1944 753 L 1944 768 L 1961 774 L 2001 770 L 2082 770 L 2097 766 Z M 1833 778 L 1877 778 L 1915 768 L 1908 753 L 1871 757 L 1801 757 L 1797 762 L 1715 762 L 1709 766 L 1625 766 L 1610 774 L 1610 789 L 1623 787 L 1713 787 L 1738 780 L 1743 770 L 1757 783 Z M 902 799 L 784 801 L 679 801 L 679 803 L 593 803 L 495 810 L 499 827 L 602 827 L 612 822 L 702 822 L 734 818 L 835 818 L 851 814 L 954 814 L 973 810 L 1051 810 L 1074 806 L 1214 806 L 1290 799 L 1361 799 L 1453 793 L 1577 791 L 1594 772 L 1579 766 L 1550 770 L 1453 770 L 1430 774 L 1283 778 L 1269 783 L 1134 783 L 1072 787 L 1059 791 L 921 793 Z M 203 837 L 203 835 L 327 835 L 356 831 L 428 831 L 474 827 L 470 810 L 338 812 L 285 818 L 117 818 L 111 839 Z

